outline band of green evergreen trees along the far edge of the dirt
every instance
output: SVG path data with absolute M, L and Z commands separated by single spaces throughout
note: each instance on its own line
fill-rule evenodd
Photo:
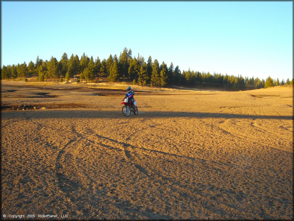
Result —
M 119 57 L 110 55 L 108 59 L 102 61 L 97 57 L 94 61 L 83 53 L 81 58 L 72 54 L 70 58 L 64 53 L 58 61 L 51 57 L 50 61 L 37 56 L 36 62 L 30 61 L 17 65 L 8 65 L 1 68 L 1 79 L 15 79 L 38 75 L 39 81 L 50 78 L 65 77 L 66 80 L 79 75 L 81 80 L 91 81 L 96 77 L 107 77 L 108 81 L 133 80 L 139 85 L 150 84 L 151 87 L 194 87 L 194 88 L 216 88 L 218 90 L 252 90 L 266 88 L 276 85 L 293 85 L 293 79 L 289 78 L 280 82 L 279 79 L 273 80 L 268 77 L 265 80 L 243 77 L 242 75 L 229 76 L 218 73 L 199 72 L 194 70 L 181 70 L 178 66 L 174 68 L 171 62 L 168 67 L 165 62 L 159 64 L 158 60 L 152 61 L 151 56 L 147 62 L 144 57 L 138 54 L 132 57 L 132 50 L 124 48 Z

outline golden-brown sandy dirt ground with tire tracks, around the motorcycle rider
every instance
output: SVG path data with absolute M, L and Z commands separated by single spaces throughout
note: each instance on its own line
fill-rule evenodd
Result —
M 124 88 L 1 81 L 3 220 L 293 220 L 293 88 Z

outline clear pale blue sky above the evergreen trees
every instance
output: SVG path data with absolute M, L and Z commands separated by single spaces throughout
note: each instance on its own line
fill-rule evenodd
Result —
M 293 1 L 1 1 L 1 67 L 131 48 L 180 70 L 293 78 Z

